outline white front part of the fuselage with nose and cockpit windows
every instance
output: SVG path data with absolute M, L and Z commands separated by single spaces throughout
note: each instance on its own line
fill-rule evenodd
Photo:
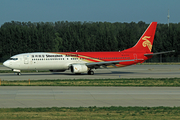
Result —
M 77 57 L 55 53 L 24 53 L 12 56 L 4 66 L 17 70 L 68 70 L 71 64 L 86 63 Z

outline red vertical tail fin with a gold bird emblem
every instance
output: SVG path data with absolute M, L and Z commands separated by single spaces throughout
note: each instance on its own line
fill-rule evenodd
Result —
M 150 53 L 152 50 L 156 26 L 157 22 L 152 22 L 136 45 L 130 49 L 127 49 L 127 51 Z

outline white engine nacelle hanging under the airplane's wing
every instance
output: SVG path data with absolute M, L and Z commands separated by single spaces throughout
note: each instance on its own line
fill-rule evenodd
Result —
M 77 64 L 71 66 L 72 73 L 83 73 L 87 71 L 88 71 L 88 67 L 86 65 Z

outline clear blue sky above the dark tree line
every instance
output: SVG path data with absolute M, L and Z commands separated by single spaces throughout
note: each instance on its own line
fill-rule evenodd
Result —
M 180 22 L 180 0 L 0 0 L 5 22 Z

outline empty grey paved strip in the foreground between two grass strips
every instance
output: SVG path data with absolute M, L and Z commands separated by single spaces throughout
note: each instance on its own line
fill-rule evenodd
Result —
M 1 86 L 0 108 L 180 106 L 179 87 Z

